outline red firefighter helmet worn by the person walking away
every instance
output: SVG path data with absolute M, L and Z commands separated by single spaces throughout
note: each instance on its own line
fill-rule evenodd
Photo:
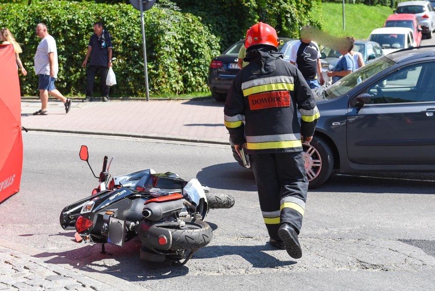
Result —
M 246 32 L 245 48 L 248 49 L 256 44 L 268 44 L 278 47 L 279 39 L 276 30 L 268 24 L 259 22 L 254 24 Z

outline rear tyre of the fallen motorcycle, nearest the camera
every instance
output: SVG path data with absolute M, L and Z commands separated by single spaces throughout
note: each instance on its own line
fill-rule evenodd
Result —
M 211 227 L 200 219 L 181 217 L 186 225 L 181 229 L 170 229 L 171 250 L 195 250 L 205 247 L 213 237 Z

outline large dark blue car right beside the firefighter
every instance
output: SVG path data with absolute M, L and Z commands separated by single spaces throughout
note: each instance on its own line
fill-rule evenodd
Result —
M 435 172 L 434 50 L 403 49 L 315 89 L 321 117 L 303 144 L 310 188 L 333 170 Z

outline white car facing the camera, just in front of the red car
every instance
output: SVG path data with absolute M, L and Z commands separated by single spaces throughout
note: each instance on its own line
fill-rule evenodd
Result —
M 376 28 L 368 39 L 379 43 L 384 55 L 400 49 L 417 47 L 413 31 L 407 27 Z

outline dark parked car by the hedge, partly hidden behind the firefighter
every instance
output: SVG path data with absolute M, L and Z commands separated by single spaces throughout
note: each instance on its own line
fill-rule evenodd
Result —
M 284 54 L 284 60 L 289 61 L 290 52 L 293 44 L 298 40 L 291 38 L 280 38 L 283 44 L 278 46 L 278 51 Z M 239 40 L 233 43 L 221 55 L 213 58 L 210 62 L 208 70 L 208 86 L 211 91 L 211 96 L 217 101 L 225 101 L 227 99 L 228 90 L 240 69 L 237 66 L 237 56 L 240 47 L 243 46 L 245 40 Z

